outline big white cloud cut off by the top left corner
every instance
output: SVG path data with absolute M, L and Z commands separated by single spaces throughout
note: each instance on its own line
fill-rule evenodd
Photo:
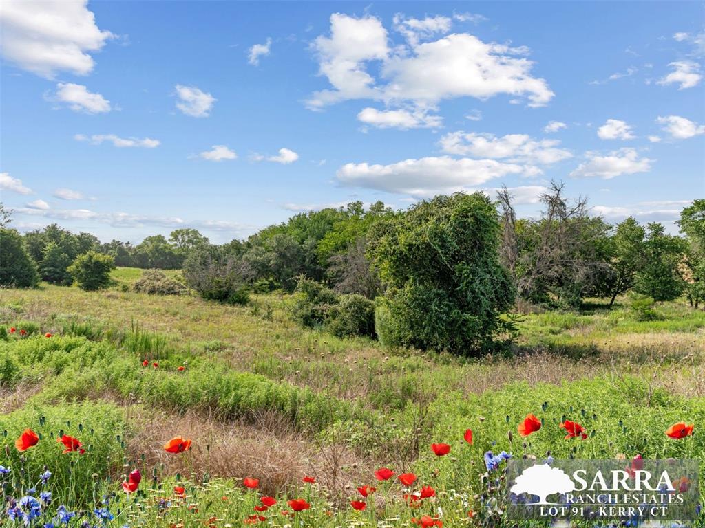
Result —
M 90 73 L 90 53 L 114 37 L 96 25 L 87 0 L 4 0 L 0 23 L 2 54 L 20 68 L 49 79 L 59 71 Z

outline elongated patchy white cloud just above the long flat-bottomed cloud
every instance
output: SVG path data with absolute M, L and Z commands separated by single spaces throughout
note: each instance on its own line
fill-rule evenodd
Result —
M 572 157 L 570 151 L 558 149 L 557 139 L 532 139 L 527 134 L 493 134 L 450 132 L 441 138 L 441 149 L 457 156 L 507 159 L 513 163 L 550 165 Z

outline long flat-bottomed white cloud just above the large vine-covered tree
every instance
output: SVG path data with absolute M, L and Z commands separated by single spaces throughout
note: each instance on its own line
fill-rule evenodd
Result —
M 347 163 L 338 169 L 341 184 L 412 196 L 472 190 L 495 178 L 522 174 L 522 165 L 449 156 L 408 159 L 389 165 Z

